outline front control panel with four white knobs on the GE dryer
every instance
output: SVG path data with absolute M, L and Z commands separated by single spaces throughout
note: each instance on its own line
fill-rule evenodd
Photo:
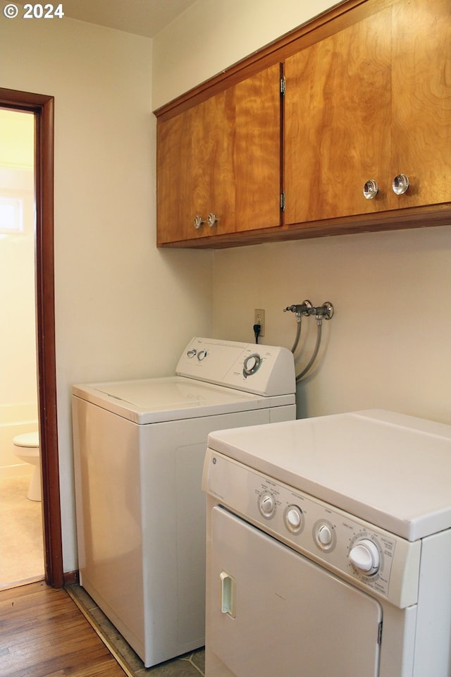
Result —
M 359 587 L 416 602 L 420 542 L 408 542 L 320 499 L 207 450 L 203 489 L 218 504 Z

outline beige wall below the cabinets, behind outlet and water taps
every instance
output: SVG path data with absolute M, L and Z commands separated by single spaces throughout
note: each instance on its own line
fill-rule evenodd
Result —
M 330 300 L 318 367 L 297 389 L 297 416 L 385 408 L 451 423 L 451 228 L 319 238 L 217 252 L 214 332 L 252 340 L 266 309 L 265 343 L 291 348 L 283 308 Z M 314 318 L 304 319 L 299 367 Z

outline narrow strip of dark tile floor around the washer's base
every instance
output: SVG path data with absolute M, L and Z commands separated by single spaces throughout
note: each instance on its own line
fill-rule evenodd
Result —
M 70 597 L 91 623 L 128 677 L 199 677 L 205 674 L 204 649 L 197 649 L 172 661 L 153 668 L 144 668 L 144 663 L 135 654 L 118 630 L 103 614 L 89 594 L 80 585 L 66 588 Z

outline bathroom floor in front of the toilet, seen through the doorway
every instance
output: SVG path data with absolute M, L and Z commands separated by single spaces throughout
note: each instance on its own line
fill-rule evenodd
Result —
M 27 499 L 29 483 L 0 479 L 0 589 L 44 578 L 42 504 Z

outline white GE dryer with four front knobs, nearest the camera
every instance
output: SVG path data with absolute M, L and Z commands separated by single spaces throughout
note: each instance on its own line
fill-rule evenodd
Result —
M 213 432 L 206 677 L 450 677 L 451 426 Z

